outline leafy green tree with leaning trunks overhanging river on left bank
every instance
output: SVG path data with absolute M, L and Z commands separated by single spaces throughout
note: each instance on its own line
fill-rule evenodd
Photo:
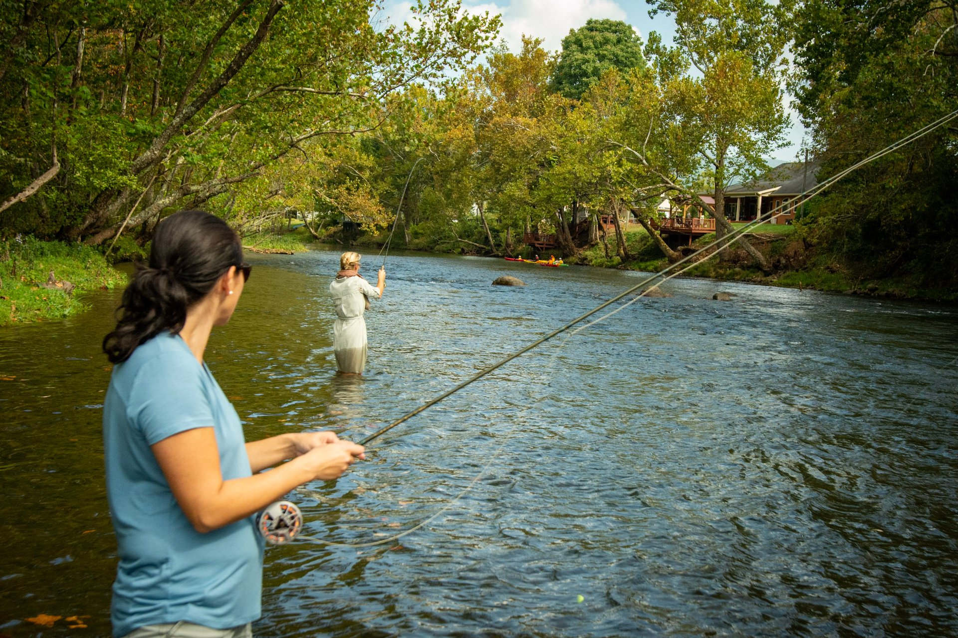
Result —
M 498 27 L 457 0 L 385 29 L 375 0 L 25 6 L 0 6 L 0 199 L 53 148 L 62 168 L 0 224 L 91 243 L 184 200 L 216 208 L 310 140 L 375 130 L 389 96 L 467 65 Z

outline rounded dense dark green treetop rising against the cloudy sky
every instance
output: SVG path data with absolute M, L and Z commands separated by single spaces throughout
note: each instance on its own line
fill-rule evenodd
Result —
M 579 100 L 609 69 L 627 72 L 645 66 L 642 38 L 621 20 L 591 19 L 562 38 L 562 53 L 553 75 L 553 88 Z

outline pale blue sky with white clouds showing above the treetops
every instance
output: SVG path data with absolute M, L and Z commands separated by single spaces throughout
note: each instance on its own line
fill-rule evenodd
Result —
M 408 11 L 408 0 L 399 0 L 387 11 L 394 19 Z M 662 35 L 666 42 L 672 41 L 675 25 L 671 16 L 659 13 L 649 17 L 649 5 L 645 0 L 463 0 L 463 7 L 470 13 L 489 11 L 502 15 L 502 29 L 499 35 L 513 52 L 522 45 L 522 34 L 534 35 L 543 39 L 542 46 L 550 51 L 562 48 L 562 38 L 570 29 L 578 29 L 589 18 L 610 18 L 623 20 L 646 39 L 650 32 Z M 787 147 L 775 151 L 774 157 L 780 161 L 793 161 L 805 132 L 798 116 L 788 108 L 791 128 L 787 134 Z

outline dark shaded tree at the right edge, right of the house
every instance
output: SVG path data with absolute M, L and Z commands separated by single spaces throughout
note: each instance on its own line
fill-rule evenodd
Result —
M 825 173 L 958 108 L 958 6 L 806 0 L 792 86 Z M 958 283 L 958 126 L 946 125 L 839 182 L 803 220 L 859 277 Z

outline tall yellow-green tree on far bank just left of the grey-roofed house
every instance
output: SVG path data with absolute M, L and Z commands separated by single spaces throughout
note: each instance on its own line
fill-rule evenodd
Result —
M 765 0 L 658 0 L 652 14 L 673 14 L 676 47 L 700 77 L 675 77 L 673 117 L 688 148 L 699 155 L 714 185 L 715 205 L 696 196 L 716 218 L 716 236 L 732 232 L 725 218 L 725 188 L 733 179 L 767 170 L 763 156 L 781 146 L 788 123 L 782 104 L 787 5 Z M 675 51 L 656 49 L 670 60 Z M 676 185 L 677 186 L 677 185 Z M 736 239 L 764 271 L 768 260 L 746 239 Z M 723 253 L 724 255 L 725 253 Z

